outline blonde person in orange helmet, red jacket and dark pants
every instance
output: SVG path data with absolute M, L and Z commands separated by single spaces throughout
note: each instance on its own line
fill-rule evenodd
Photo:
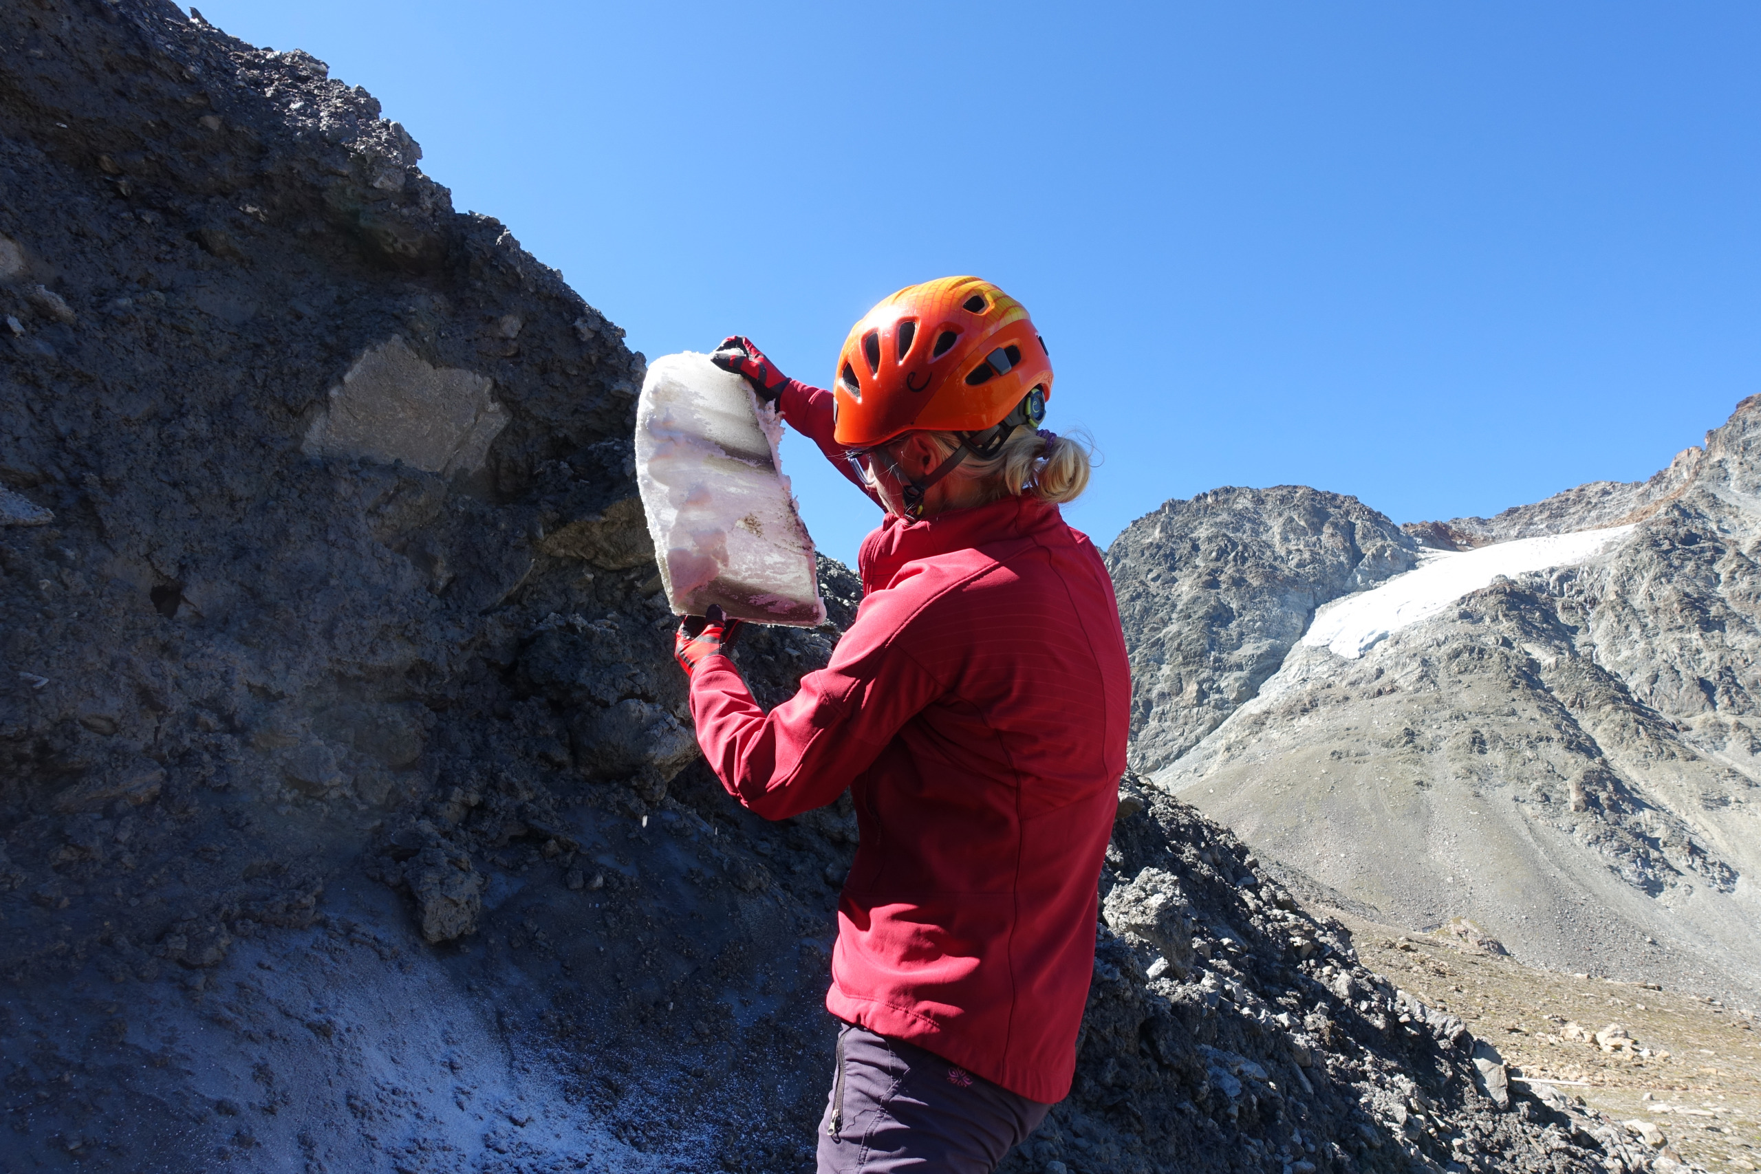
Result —
M 854 799 L 819 1170 L 991 1170 L 1071 1088 L 1125 769 L 1113 584 L 1058 510 L 1088 451 L 1039 431 L 1044 340 L 970 276 L 870 310 L 829 393 L 741 336 L 713 361 L 886 510 L 856 620 L 787 702 L 754 701 L 727 657 L 738 621 L 676 637 L 729 794 L 773 820 Z

